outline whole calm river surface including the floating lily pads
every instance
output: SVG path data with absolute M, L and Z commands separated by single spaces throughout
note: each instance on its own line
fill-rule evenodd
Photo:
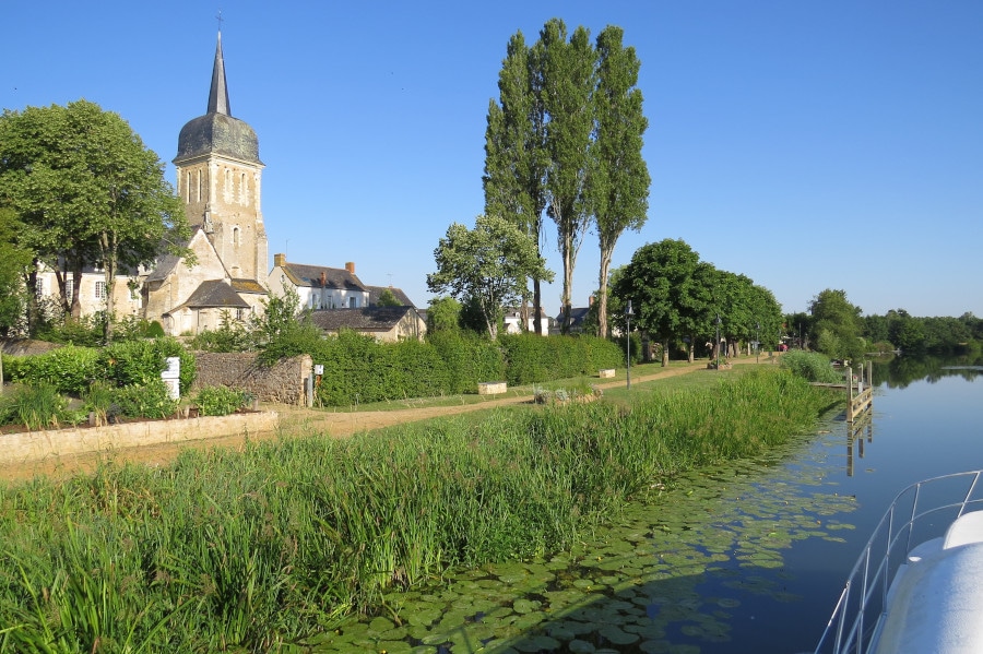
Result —
M 983 467 L 983 367 L 876 365 L 869 420 L 843 413 L 754 462 L 697 471 L 573 552 L 393 594 L 323 652 L 810 652 L 904 486 Z

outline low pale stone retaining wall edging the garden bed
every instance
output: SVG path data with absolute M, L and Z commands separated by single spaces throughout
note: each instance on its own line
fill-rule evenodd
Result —
M 187 420 L 151 420 L 105 427 L 5 433 L 0 436 L 0 464 L 273 431 L 279 420 L 280 414 L 268 411 Z

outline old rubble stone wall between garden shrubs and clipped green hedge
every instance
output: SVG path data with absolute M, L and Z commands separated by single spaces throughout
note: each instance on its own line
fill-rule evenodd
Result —
M 304 380 L 310 374 L 309 355 L 284 359 L 271 368 L 257 362 L 254 353 L 196 352 L 198 378 L 192 392 L 203 387 L 249 391 L 261 402 L 303 405 Z

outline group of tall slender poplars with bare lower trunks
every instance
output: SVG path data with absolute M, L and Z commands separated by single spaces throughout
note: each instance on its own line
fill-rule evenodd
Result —
M 531 47 L 517 33 L 499 72 L 499 100 L 488 105 L 485 213 L 519 225 L 537 247 L 544 217 L 555 223 L 564 332 L 577 255 L 591 225 L 601 240 L 603 296 L 618 237 L 640 228 L 648 209 L 650 178 L 641 158 L 648 123 L 635 87 L 640 63 L 621 37 L 619 27 L 609 26 L 595 47 L 584 27 L 568 35 L 559 19 L 548 21 Z M 541 300 L 540 280 L 533 278 L 536 316 Z

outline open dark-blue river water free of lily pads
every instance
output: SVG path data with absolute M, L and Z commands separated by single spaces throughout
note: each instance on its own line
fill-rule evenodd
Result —
M 850 438 L 843 415 L 834 416 L 829 435 L 783 464 L 820 475 L 824 486 L 855 497 L 855 511 L 841 519 L 856 528 L 838 533 L 844 543 L 795 543 L 784 552 L 782 572 L 789 592 L 801 599 L 743 605 L 745 610 L 734 613 L 729 642 L 690 641 L 700 652 L 812 651 L 846 573 L 895 496 L 927 477 L 983 468 L 983 368 L 936 364 L 928 369 L 912 380 L 903 361 L 876 367 L 872 420 L 856 438 Z M 782 492 L 801 497 L 813 489 L 792 485 Z

